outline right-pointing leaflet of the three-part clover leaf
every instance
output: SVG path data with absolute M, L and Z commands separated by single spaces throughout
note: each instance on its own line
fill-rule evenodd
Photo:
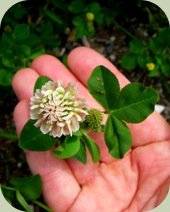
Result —
M 154 111 L 158 98 L 158 93 L 152 88 L 140 83 L 128 84 L 121 90 L 111 114 L 129 123 L 141 122 Z

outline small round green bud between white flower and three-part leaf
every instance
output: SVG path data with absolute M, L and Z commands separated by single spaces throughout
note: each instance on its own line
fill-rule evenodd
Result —
M 85 118 L 85 126 L 94 132 L 99 132 L 102 130 L 101 122 L 103 119 L 103 114 L 97 109 L 88 110 L 88 115 Z

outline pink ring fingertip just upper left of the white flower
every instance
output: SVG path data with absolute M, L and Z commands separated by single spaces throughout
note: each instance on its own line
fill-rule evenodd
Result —
M 28 99 L 33 94 L 34 83 L 39 75 L 31 68 L 19 70 L 13 77 L 12 87 L 18 99 Z

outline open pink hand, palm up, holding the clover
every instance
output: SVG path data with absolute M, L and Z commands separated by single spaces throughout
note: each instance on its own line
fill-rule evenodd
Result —
M 29 119 L 29 98 L 39 75 L 76 82 L 89 107 L 101 109 L 86 89 L 87 79 L 97 65 L 112 70 L 121 87 L 129 81 L 103 56 L 78 47 L 69 54 L 70 71 L 58 59 L 43 55 L 30 68 L 16 73 L 13 89 L 19 98 L 14 110 L 18 134 Z M 91 136 L 100 146 L 101 161 L 88 164 L 74 159 L 59 160 L 48 152 L 26 152 L 31 171 L 40 174 L 44 198 L 55 212 L 140 212 L 154 208 L 165 198 L 170 183 L 170 126 L 154 112 L 144 122 L 129 125 L 133 147 L 123 159 L 108 154 L 102 134 Z

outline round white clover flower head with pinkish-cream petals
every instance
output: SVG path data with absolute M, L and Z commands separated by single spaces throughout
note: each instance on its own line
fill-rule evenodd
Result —
M 30 105 L 30 118 L 37 120 L 35 126 L 53 137 L 72 135 L 88 114 L 85 100 L 77 98 L 76 87 L 69 83 L 64 88 L 60 81 L 49 81 L 37 89 Z

